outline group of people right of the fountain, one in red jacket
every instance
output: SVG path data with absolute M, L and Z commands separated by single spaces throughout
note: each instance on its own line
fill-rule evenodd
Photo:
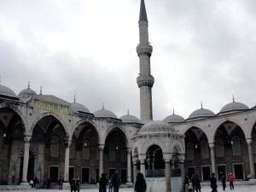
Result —
M 220 175 L 220 180 L 222 183 L 222 187 L 223 190 L 226 189 L 226 177 L 224 175 L 224 173 L 219 172 Z M 235 177 L 232 174 L 232 172 L 230 172 L 230 174 L 228 174 L 228 181 L 230 182 L 230 190 L 234 190 L 234 181 L 235 181 Z M 190 183 L 191 182 L 191 185 Z M 212 192 L 217 192 L 217 178 L 215 177 L 215 173 L 212 173 L 212 177 L 210 178 L 210 182 L 211 182 L 211 188 L 212 188 Z M 184 189 L 185 192 L 201 192 L 201 179 L 200 177 L 198 177 L 196 174 L 193 175 L 190 179 L 189 179 L 189 174 L 186 175 L 185 177 L 185 181 L 184 181 Z

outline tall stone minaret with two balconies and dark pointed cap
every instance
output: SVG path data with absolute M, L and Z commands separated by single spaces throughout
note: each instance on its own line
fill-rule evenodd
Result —
M 148 42 L 148 17 L 144 0 L 141 0 L 138 24 L 140 44 L 137 45 L 137 55 L 140 59 L 140 73 L 137 77 L 137 85 L 140 88 L 141 120 L 145 122 L 153 119 L 151 88 L 154 84 L 154 77 L 150 73 L 150 56 L 153 49 Z

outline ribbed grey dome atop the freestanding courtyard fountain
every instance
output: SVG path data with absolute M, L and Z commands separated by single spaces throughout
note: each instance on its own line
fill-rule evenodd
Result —
M 143 125 L 139 131 L 139 134 L 150 133 L 176 133 L 176 131 L 170 124 L 167 124 L 161 120 L 152 120 Z

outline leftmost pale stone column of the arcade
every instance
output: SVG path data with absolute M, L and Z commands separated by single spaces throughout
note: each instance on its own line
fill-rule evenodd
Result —
M 23 172 L 22 172 L 22 183 L 20 184 L 29 184 L 27 182 L 27 168 L 28 168 L 28 160 L 29 160 L 29 146 L 30 146 L 31 136 L 24 137 L 24 160 L 23 160 Z

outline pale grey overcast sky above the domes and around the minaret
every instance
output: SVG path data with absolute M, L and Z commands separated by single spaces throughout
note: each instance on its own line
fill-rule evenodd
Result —
M 255 0 L 145 0 L 154 119 L 256 104 Z M 0 0 L 0 76 L 32 90 L 139 114 L 140 0 Z

